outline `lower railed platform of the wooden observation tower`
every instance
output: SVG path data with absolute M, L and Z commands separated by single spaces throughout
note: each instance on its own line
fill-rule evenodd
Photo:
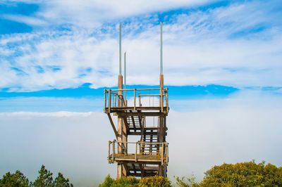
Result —
M 154 147 L 154 150 L 146 150 L 147 146 L 151 146 L 151 148 Z M 119 160 L 133 162 L 161 162 L 161 165 L 167 165 L 168 143 L 109 141 L 108 160 L 110 163 Z

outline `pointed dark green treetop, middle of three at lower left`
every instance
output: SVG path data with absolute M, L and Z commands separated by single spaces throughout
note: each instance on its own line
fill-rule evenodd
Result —
M 33 182 L 34 187 L 53 187 L 54 181 L 53 181 L 53 174 L 45 169 L 45 166 L 42 165 L 41 169 L 39 170 L 39 176 L 37 179 Z

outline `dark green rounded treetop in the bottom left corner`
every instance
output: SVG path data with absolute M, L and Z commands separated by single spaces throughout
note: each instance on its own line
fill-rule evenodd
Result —
M 18 170 L 14 174 L 8 172 L 0 179 L 1 187 L 28 187 L 29 184 L 28 179 Z

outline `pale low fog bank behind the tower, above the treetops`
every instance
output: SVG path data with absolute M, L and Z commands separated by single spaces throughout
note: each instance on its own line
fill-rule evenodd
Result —
M 281 165 L 281 101 L 245 95 L 171 101 L 181 103 L 181 112 L 171 108 L 168 115 L 168 176 L 201 180 L 223 162 Z M 106 160 L 114 132 L 102 112 L 2 112 L 0 129 L 0 175 L 20 169 L 34 180 L 42 164 L 75 186 L 97 186 L 106 174 L 116 175 Z

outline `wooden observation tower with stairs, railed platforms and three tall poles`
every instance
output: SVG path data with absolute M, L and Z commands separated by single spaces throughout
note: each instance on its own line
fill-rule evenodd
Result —
M 121 74 L 121 25 L 119 26 L 118 89 L 104 90 L 104 112 L 109 117 L 116 139 L 109 141 L 109 163 L 117 163 L 117 178 L 123 176 L 166 176 L 168 143 L 166 116 L 168 89 L 164 88 L 161 23 L 160 75 L 157 89 L 126 89 Z M 117 117 L 117 128 L 114 123 Z M 133 139 L 134 141 L 130 141 Z

